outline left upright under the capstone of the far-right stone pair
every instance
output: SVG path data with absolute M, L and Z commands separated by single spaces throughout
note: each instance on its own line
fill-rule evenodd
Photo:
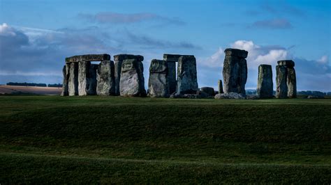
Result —
M 276 66 L 276 97 L 287 97 L 287 67 L 285 65 Z

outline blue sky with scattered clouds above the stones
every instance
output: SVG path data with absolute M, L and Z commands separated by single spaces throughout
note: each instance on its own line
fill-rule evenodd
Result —
M 226 48 L 249 51 L 246 89 L 258 65 L 295 61 L 297 90 L 331 91 L 330 0 L 0 0 L 0 84 L 62 83 L 68 56 L 196 56 L 198 85 L 223 79 Z M 274 89 L 276 83 L 274 81 Z

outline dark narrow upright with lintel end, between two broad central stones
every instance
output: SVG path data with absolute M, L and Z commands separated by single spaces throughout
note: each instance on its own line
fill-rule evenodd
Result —
M 163 54 L 163 60 L 168 65 L 168 83 L 169 83 L 169 94 L 176 92 L 176 63 L 179 60 L 179 54 Z

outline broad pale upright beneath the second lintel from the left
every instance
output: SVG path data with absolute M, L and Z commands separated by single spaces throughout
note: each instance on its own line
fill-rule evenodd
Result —
M 124 97 L 146 96 L 144 67 L 137 59 L 126 59 L 122 63 L 119 93 Z

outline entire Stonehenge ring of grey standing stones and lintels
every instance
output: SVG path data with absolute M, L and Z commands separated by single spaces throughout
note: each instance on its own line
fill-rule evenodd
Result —
M 144 57 L 118 54 L 110 61 L 109 54 L 87 54 L 66 58 L 62 68 L 61 96 L 121 95 L 123 97 L 183 97 L 215 99 L 258 99 L 273 97 L 272 66 L 258 66 L 257 96 L 246 96 L 248 52 L 226 49 L 223 81 L 212 87 L 198 87 L 196 58 L 193 55 L 163 54 L 163 60 L 153 59 L 149 66 L 145 90 Z M 100 62 L 99 64 L 91 62 Z M 177 63 L 177 64 L 176 64 Z M 276 66 L 276 97 L 296 97 L 295 63 L 278 61 Z M 176 69 L 177 65 L 177 69 Z M 176 72 L 177 70 L 177 72 Z M 218 93 L 218 94 L 216 94 Z M 216 95 L 215 95 L 216 94 Z

